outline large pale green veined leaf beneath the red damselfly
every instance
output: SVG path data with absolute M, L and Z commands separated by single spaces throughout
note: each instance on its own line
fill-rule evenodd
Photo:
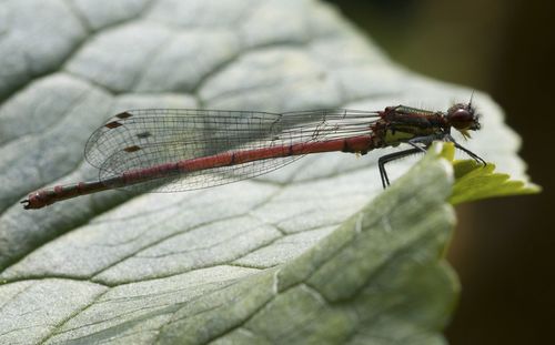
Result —
M 95 179 L 84 143 L 130 108 L 446 109 L 471 90 L 403 70 L 311 0 L 2 1 L 0 77 L 0 343 L 442 342 L 443 160 L 375 200 L 381 152 L 190 193 L 18 202 Z M 474 102 L 484 130 L 464 144 L 524 179 L 501 109 Z

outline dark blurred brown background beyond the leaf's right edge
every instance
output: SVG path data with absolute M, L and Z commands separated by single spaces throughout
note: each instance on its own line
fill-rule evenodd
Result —
M 553 344 L 554 2 L 329 2 L 393 60 L 488 92 L 505 110 L 506 121 L 523 138 L 528 174 L 544 191 L 457 207 L 448 260 L 463 293 L 446 335 L 451 344 Z

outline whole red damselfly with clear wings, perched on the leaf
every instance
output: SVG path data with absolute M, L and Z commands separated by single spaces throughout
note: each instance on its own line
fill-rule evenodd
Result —
M 260 111 L 142 109 L 124 111 L 95 130 L 85 144 L 85 160 L 99 170 L 95 181 L 56 185 L 32 192 L 27 210 L 112 189 L 133 192 L 180 192 L 211 187 L 265 174 L 312 153 L 366 154 L 375 149 L 408 148 L 384 154 L 377 165 L 382 185 L 390 185 L 385 165 L 426 152 L 433 141 L 452 142 L 472 159 L 486 162 L 458 144 L 480 130 L 480 115 L 468 103 L 446 111 L 405 105 L 381 111 L 325 109 L 271 113 Z

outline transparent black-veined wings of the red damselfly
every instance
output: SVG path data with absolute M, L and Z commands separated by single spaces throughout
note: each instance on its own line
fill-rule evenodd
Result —
M 148 109 L 120 113 L 98 129 L 85 159 L 109 181 L 124 172 L 230 152 L 289 146 L 370 133 L 376 112 L 315 110 L 290 113 Z M 256 160 L 173 174 L 130 185 L 134 191 L 175 192 L 258 176 L 302 155 Z

